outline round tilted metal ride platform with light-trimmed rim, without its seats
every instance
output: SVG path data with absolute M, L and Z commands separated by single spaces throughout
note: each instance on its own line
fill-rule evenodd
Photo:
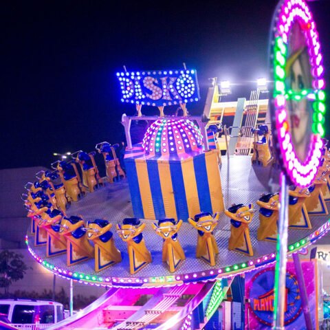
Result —
M 265 170 L 261 166 L 252 166 L 249 156 L 222 157 L 221 184 L 223 201 L 228 209 L 232 203 L 253 203 L 256 206 L 265 187 L 257 177 Z M 330 207 L 330 205 L 329 205 Z M 259 208 L 256 206 L 256 208 Z M 87 221 L 107 219 L 113 225 L 120 223 L 125 217 L 133 217 L 129 185 L 127 181 L 107 184 L 92 194 L 87 194 L 78 203 L 72 203 L 67 210 L 68 215 L 81 214 Z M 312 228 L 289 229 L 288 253 L 296 252 L 323 236 L 330 226 L 329 216 L 309 216 Z M 122 252 L 122 262 L 112 265 L 106 270 L 94 272 L 94 259 L 78 265 L 67 267 L 65 255 L 47 258 L 45 247 L 34 247 L 32 235 L 28 235 L 26 243 L 34 258 L 48 270 L 65 278 L 73 278 L 81 283 L 95 283 L 109 287 L 154 287 L 197 283 L 198 281 L 214 280 L 234 274 L 253 270 L 257 267 L 274 263 L 276 260 L 276 243 L 258 241 L 256 231 L 259 228 L 259 212 L 255 212 L 250 223 L 250 237 L 254 256 L 245 256 L 239 252 L 228 250 L 230 237 L 230 219 L 221 213 L 219 225 L 214 230 L 219 254 L 216 265 L 210 267 L 201 259 L 195 257 L 197 232 L 189 223 L 183 223 L 179 231 L 179 241 L 186 254 L 186 260 L 174 273 L 170 273 L 166 263 L 162 263 L 162 239 L 155 234 L 152 220 L 142 219 L 146 223 L 143 232 L 146 247 L 151 251 L 153 262 L 146 265 L 137 274 L 129 273 L 129 256 L 124 243 L 114 232 L 115 244 Z

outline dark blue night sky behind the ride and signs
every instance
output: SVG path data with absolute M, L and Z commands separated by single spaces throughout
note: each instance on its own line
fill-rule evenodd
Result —
M 214 76 L 237 84 L 225 100 L 249 98 L 253 80 L 267 76 L 277 1 L 178 2 L 2 1 L 1 168 L 49 166 L 53 152 L 120 142 L 121 115 L 134 113 L 120 102 L 122 65 L 197 69 L 201 100 L 188 104 L 192 114 L 203 111 Z M 330 1 L 309 5 L 329 86 Z

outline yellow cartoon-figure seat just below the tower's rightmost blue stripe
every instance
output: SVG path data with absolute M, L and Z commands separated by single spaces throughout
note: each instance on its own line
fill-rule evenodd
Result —
M 213 230 L 219 222 L 219 213 L 214 215 L 209 212 L 199 213 L 193 219 L 189 218 L 188 221 L 192 227 L 197 229 L 197 258 L 201 258 L 214 266 L 219 250 L 213 236 Z

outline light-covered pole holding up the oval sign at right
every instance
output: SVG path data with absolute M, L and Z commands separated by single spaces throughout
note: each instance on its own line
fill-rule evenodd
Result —
M 281 173 L 280 214 L 276 244 L 276 267 L 274 281 L 274 322 L 273 329 L 284 330 L 285 282 L 287 274 L 287 226 L 289 193 L 287 179 Z

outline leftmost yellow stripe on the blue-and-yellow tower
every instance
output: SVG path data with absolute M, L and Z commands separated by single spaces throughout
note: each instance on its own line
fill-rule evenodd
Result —
M 153 197 L 151 195 L 148 168 L 145 161 L 137 162 L 135 159 L 137 180 L 139 181 L 140 194 L 142 199 L 142 208 L 145 219 L 155 219 L 155 210 L 153 209 Z

